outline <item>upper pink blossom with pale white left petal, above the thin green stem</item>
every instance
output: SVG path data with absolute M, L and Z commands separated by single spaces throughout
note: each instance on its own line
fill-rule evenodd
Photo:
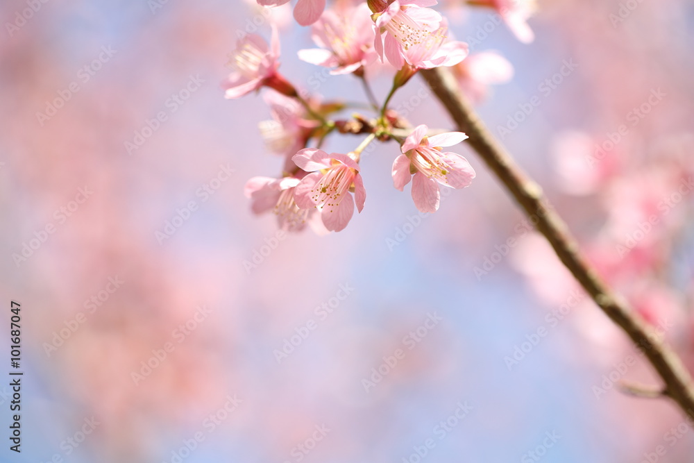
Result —
M 299 58 L 314 65 L 335 67 L 330 74 L 349 74 L 375 60 L 371 13 L 366 3 L 356 8 L 326 11 L 313 26 L 320 49 L 299 50 Z

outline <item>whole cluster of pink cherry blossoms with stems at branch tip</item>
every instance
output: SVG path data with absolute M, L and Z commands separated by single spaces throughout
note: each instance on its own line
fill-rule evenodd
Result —
M 288 0 L 257 0 L 272 7 Z M 260 124 L 270 151 L 282 155 L 281 176 L 253 177 L 245 194 L 256 214 L 273 211 L 278 225 L 298 231 L 308 224 L 317 233 L 343 230 L 362 212 L 366 189 L 362 180 L 362 152 L 372 142 L 397 142 L 400 154 L 393 161 L 393 185 L 403 191 L 412 180 L 412 199 L 422 212 L 439 209 L 440 187 L 460 189 L 471 185 L 473 167 L 457 153 L 443 151 L 465 140 L 464 133 L 430 131 L 421 124 L 412 128 L 389 107 L 393 94 L 421 69 L 450 67 L 464 91 L 479 101 L 486 85 L 502 83 L 513 69 L 493 52 L 473 55 L 466 65 L 468 46 L 451 40 L 448 22 L 431 8 L 436 0 L 336 0 L 325 10 L 325 0 L 298 0 L 294 17 L 312 25 L 316 48 L 298 51 L 298 58 L 330 69 L 332 75 L 358 78 L 368 103 L 322 101 L 306 90 L 297 90 L 280 71 L 280 41 L 273 26 L 271 43 L 260 35 L 246 35 L 230 56 L 231 74 L 223 83 L 226 97 L 236 99 L 266 88 L 264 100 L 271 120 Z M 496 2 L 478 6 L 504 8 Z M 508 14 L 507 14 L 508 13 Z M 372 74 L 393 69 L 391 91 L 382 100 L 371 89 Z M 368 108 L 371 115 L 344 110 Z M 365 135 L 349 153 L 323 151 L 328 135 Z M 382 151 L 382 150 L 380 150 Z

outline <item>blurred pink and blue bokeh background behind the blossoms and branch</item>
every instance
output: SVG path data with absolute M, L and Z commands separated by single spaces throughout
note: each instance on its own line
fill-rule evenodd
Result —
M 493 131 L 539 99 L 504 144 L 604 277 L 694 366 L 694 196 L 675 201 L 694 170 L 694 4 L 538 7 L 532 44 L 491 10 L 437 8 L 451 35 L 515 69 L 480 102 Z M 282 162 L 258 131 L 262 98 L 225 100 L 220 83 L 254 19 L 269 37 L 253 3 L 9 0 L 0 14 L 2 326 L 10 300 L 22 303 L 24 371 L 20 455 L 8 451 L 0 381 L 1 461 L 694 461 L 672 404 L 618 390 L 657 382 L 465 147 L 477 179 L 430 217 L 413 218 L 409 187 L 392 187 L 394 144 L 362 161 L 366 208 L 341 233 L 277 239 L 271 215 L 251 214 L 244 183 Z M 325 100 L 363 101 L 356 79 L 296 59 L 312 42 L 290 19 L 289 6 L 273 12 L 283 74 Z M 543 90 L 566 60 L 577 67 Z M 391 71 L 369 73 L 382 98 Z M 414 78 L 393 106 L 416 101 L 412 124 L 450 127 L 418 92 L 430 95 Z M 143 131 L 159 112 L 166 120 Z M 175 233 L 157 235 L 191 201 Z M 378 380 L 372 369 L 398 348 Z

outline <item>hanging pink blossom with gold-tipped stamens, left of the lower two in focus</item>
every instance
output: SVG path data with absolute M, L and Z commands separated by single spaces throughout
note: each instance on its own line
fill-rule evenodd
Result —
M 357 162 L 346 154 L 328 154 L 316 148 L 302 149 L 292 159 L 301 169 L 313 172 L 296 186 L 294 199 L 298 207 L 317 208 L 325 228 L 344 230 L 354 214 L 355 200 L 359 212 L 366 200 Z

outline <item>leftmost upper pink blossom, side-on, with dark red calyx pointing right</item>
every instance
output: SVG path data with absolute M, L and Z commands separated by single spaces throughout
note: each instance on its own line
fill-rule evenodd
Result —
M 296 90 L 278 72 L 280 67 L 280 40 L 277 29 L 272 28 L 271 47 L 256 34 L 248 34 L 237 43 L 230 55 L 228 66 L 232 69 L 222 87 L 228 99 L 239 98 L 263 85 L 287 96 L 296 95 Z

